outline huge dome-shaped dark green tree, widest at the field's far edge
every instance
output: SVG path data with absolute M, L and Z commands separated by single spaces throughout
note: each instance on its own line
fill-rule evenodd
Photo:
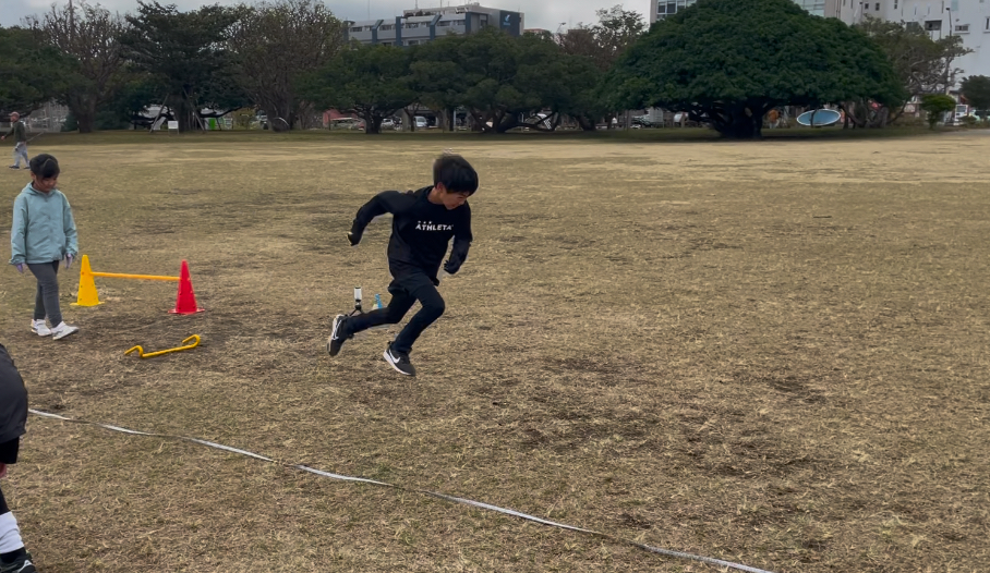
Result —
M 608 81 L 625 109 L 685 111 L 736 138 L 759 137 L 778 106 L 906 98 L 866 35 L 792 0 L 702 0 L 654 24 Z

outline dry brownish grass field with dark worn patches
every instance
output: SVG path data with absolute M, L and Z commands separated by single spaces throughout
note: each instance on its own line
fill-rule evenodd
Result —
M 990 136 L 651 143 L 527 136 L 38 141 L 105 272 L 77 336 L 0 342 L 35 409 L 192 436 L 784 572 L 990 562 Z M 386 188 L 478 168 L 475 242 L 412 354 L 337 358 L 387 300 Z M 0 229 L 26 172 L 3 170 Z M 4 247 L 7 248 L 7 247 Z M 4 251 L 4 261 L 9 252 Z M 124 356 L 178 345 L 157 358 Z M 44 573 L 701 572 L 702 563 L 204 448 L 32 416 L 2 481 Z

